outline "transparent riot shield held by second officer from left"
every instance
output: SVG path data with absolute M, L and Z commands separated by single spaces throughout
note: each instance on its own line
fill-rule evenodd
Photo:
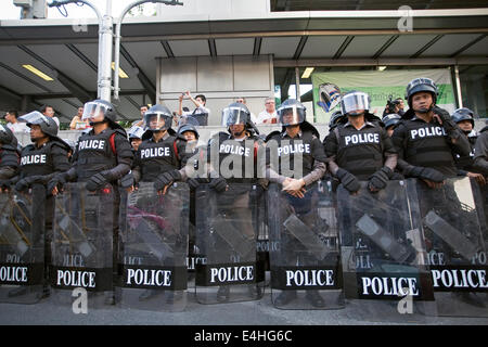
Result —
M 56 305 L 72 306 L 79 297 L 87 308 L 100 308 L 114 299 L 119 196 L 110 184 L 95 192 L 85 185 L 67 183 L 55 198 L 51 297 Z

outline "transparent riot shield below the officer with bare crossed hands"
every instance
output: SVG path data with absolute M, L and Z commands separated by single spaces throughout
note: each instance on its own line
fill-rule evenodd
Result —
M 299 198 L 268 189 L 271 299 L 280 309 L 338 309 L 344 292 L 337 223 L 330 184 L 319 181 Z

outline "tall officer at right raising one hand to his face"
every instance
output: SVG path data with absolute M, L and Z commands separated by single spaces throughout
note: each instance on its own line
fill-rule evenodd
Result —
M 406 177 L 422 179 L 429 188 L 455 177 L 453 152 L 470 155 L 470 143 L 449 113 L 436 105 L 438 89 L 429 78 L 415 78 L 407 86 L 409 110 L 396 127 L 393 141 L 398 168 Z

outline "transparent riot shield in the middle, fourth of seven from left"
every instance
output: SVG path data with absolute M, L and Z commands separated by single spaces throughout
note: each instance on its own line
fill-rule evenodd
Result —
M 202 184 L 195 193 L 195 243 L 206 259 L 195 266 L 196 300 L 219 304 L 260 299 L 265 269 L 257 261 L 254 220 L 261 193 L 258 185 L 230 183 L 228 191 L 218 193 Z

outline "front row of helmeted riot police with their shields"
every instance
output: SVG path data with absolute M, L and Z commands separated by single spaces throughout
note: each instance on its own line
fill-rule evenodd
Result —
M 367 93 L 348 92 L 323 142 L 296 100 L 278 110 L 282 130 L 266 137 L 246 106 L 232 103 L 222 111 L 227 131 L 200 147 L 197 124 L 187 118 L 176 132 L 169 110 L 155 105 L 144 115 L 145 131 L 132 134 L 141 138 L 132 141 L 137 150 L 113 106 L 95 100 L 85 105 L 92 130 L 78 140 L 70 164 L 57 129 L 34 112 L 21 117 L 34 142 L 22 154 L 2 138 L 2 153 L 11 151 L 20 163 L 11 165 L 20 167 L 17 179 L 5 174 L 2 184 L 15 181 L 15 192 L 46 187 L 44 288 L 74 288 L 81 279 L 111 273 L 100 290 L 105 301 L 117 301 L 115 288 L 121 287 L 121 300 L 136 307 L 154 309 L 165 294 L 176 308 L 184 299 L 193 226 L 190 250 L 204 259 L 195 267 L 196 296 L 205 304 L 261 297 L 261 231 L 275 244 L 269 258 L 277 307 L 343 307 L 346 286 L 356 287 L 346 298 L 362 293 L 368 299 L 371 288 L 384 299 L 389 294 L 381 288 L 391 283 L 397 294 L 409 283 L 412 296 L 422 283 L 415 299 L 429 301 L 425 272 L 432 264 L 420 255 L 442 254 L 449 266 L 465 267 L 485 249 L 486 230 L 468 223 L 476 206 L 466 207 L 457 193 L 455 159 L 470 156 L 468 139 L 436 105 L 437 97 L 431 79 L 414 79 L 407 87 L 409 111 L 382 123 L 369 113 Z M 398 121 L 389 136 L 391 119 Z M 73 261 L 57 264 L 51 249 L 61 249 L 64 260 L 86 257 L 86 271 Z M 359 266 L 363 256 L 365 267 Z M 486 301 L 468 291 L 461 296 L 478 306 Z

